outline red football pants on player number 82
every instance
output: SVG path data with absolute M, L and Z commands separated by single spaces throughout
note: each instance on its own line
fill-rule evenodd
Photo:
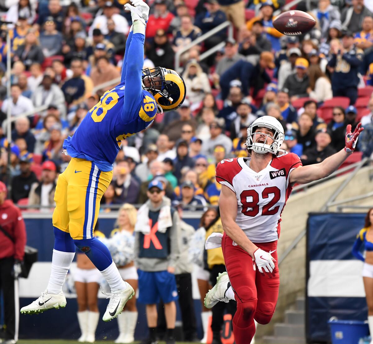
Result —
M 277 241 L 255 243 L 262 250 L 277 250 Z M 236 344 L 248 344 L 255 334 L 254 319 L 260 324 L 270 322 L 275 312 L 279 294 L 280 276 L 277 251 L 271 253 L 276 259 L 274 276 L 253 268 L 253 258 L 224 233 L 222 249 L 229 281 L 235 293 L 237 312 L 233 317 L 233 334 Z

